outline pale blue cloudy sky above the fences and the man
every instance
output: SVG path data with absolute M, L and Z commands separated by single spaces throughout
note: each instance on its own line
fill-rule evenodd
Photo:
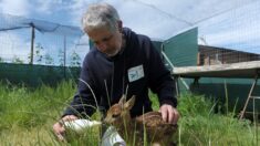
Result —
M 0 0 L 0 12 L 63 25 L 81 27 L 81 17 L 87 6 L 100 1 Z M 259 0 L 103 1 L 117 9 L 125 27 L 154 40 L 167 40 L 198 27 L 198 42 L 200 44 L 260 54 Z M 15 40 L 17 44 L 21 41 L 25 46 L 30 46 L 29 41 L 21 40 L 18 34 L 9 33 L 8 36 L 10 40 Z M 6 39 L 0 35 L 0 41 L 1 38 Z M 30 36 L 28 39 L 30 40 Z M 87 40 L 87 36 L 84 40 Z M 85 41 L 85 43 L 87 42 Z M 77 50 L 83 51 L 82 56 L 86 52 L 84 52 L 85 46 L 77 46 Z

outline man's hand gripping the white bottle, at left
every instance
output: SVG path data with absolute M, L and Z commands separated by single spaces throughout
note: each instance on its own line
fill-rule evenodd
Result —
M 64 139 L 65 127 L 63 123 L 75 119 L 79 119 L 79 117 L 75 115 L 66 115 L 53 125 L 53 132 L 59 138 L 59 140 L 65 140 Z

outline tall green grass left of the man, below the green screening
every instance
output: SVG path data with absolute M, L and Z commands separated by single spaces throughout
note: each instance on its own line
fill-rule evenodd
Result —
M 72 98 L 75 84 L 56 87 L 0 85 L 0 145 L 56 145 L 52 124 Z

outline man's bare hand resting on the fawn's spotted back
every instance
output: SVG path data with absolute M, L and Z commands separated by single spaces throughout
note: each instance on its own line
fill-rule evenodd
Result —
M 163 121 L 177 124 L 179 118 L 179 113 L 175 107 L 168 104 L 163 104 L 159 107 L 159 112 L 162 113 Z

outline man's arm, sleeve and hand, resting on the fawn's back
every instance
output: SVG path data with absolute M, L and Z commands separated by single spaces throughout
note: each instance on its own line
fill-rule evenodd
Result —
M 170 72 L 166 69 L 159 52 L 149 41 L 149 87 L 157 93 L 159 100 L 159 112 L 163 119 L 168 123 L 177 124 L 179 113 L 177 111 L 177 98 L 174 80 Z

